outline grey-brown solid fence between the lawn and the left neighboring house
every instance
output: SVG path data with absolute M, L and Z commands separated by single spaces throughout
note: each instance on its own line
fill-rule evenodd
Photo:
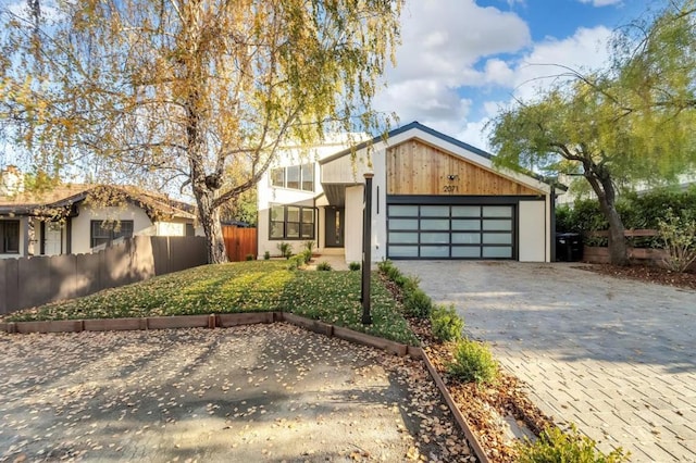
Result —
M 0 259 L 0 314 L 208 263 L 201 237 L 136 236 L 92 254 Z

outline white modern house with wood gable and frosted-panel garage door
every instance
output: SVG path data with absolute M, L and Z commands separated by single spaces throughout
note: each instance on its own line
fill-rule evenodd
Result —
M 331 147 L 330 147 L 331 148 Z M 362 255 L 364 173 L 373 173 L 373 261 L 506 259 L 551 261 L 554 190 L 495 168 L 492 154 L 417 122 L 316 162 L 288 155 L 259 183 L 259 254 Z

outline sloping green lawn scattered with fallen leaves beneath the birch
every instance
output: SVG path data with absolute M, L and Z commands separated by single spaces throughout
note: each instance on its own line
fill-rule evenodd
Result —
M 8 316 L 8 322 L 284 311 L 408 345 L 418 340 L 372 280 L 373 324 L 360 323 L 360 272 L 287 270 L 285 261 L 204 265 Z

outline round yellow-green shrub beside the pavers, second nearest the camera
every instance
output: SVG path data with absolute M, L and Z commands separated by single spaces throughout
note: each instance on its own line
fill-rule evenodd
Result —
M 498 363 L 487 345 L 460 339 L 455 346 L 455 360 L 447 364 L 447 372 L 464 383 L 489 384 L 498 378 Z

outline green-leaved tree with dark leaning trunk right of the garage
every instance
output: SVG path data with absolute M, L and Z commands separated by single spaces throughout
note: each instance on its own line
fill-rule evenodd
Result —
M 627 262 L 617 187 L 670 180 L 696 165 L 696 2 L 670 2 L 612 40 L 604 70 L 560 83 L 492 122 L 496 162 L 581 174 L 609 222 L 612 262 Z

